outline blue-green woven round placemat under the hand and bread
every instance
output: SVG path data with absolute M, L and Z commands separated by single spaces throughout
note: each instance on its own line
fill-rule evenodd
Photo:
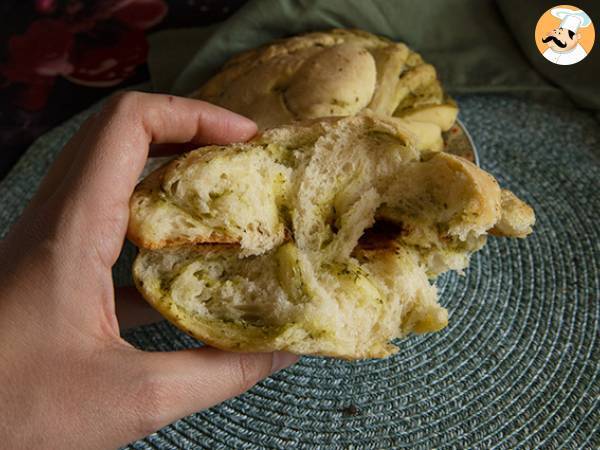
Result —
M 491 238 L 438 280 L 447 329 L 394 357 L 304 357 L 248 393 L 130 444 L 175 448 L 600 447 L 600 128 L 570 109 L 459 98 L 482 167 L 533 205 L 535 233 Z M 0 184 L 2 232 L 89 112 L 39 139 Z M 128 248 L 115 269 L 128 281 Z M 126 338 L 199 345 L 163 322 Z

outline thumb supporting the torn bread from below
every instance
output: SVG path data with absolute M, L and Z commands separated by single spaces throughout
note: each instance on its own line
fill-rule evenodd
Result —
M 286 352 L 230 353 L 210 347 L 138 354 L 144 366 L 142 392 L 133 399 L 141 435 L 241 394 L 258 381 L 298 361 Z

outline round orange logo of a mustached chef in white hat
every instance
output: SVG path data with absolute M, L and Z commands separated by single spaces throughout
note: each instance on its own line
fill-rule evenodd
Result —
M 592 19 L 576 6 L 561 5 L 546 11 L 535 28 L 535 41 L 548 61 L 568 66 L 584 59 L 594 45 Z

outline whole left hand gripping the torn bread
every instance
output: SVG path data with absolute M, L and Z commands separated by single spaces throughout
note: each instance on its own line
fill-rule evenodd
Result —
M 131 92 L 66 145 L 0 242 L 3 448 L 116 448 L 297 361 L 208 347 L 144 352 L 121 339 L 115 313 L 111 267 L 150 145 L 255 133 L 250 120 L 208 103 Z

